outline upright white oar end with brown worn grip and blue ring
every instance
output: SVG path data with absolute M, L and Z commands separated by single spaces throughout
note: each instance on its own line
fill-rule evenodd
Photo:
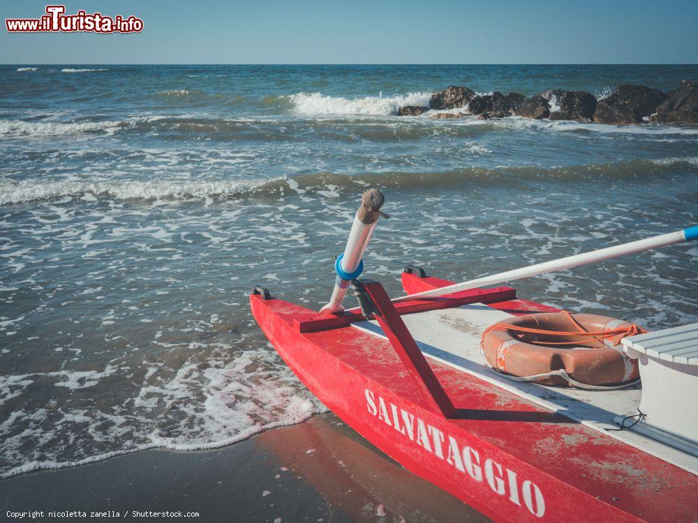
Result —
M 359 205 L 358 211 L 354 216 L 354 222 L 349 232 L 346 248 L 343 255 L 337 258 L 334 264 L 334 270 L 337 273 L 337 278 L 334 282 L 334 290 L 332 298 L 329 298 L 329 303 L 325 305 L 320 312 L 339 312 L 343 310 L 342 300 L 347 292 L 347 288 L 351 280 L 358 278 L 364 269 L 362 257 L 366 251 L 366 246 L 371 241 L 373 229 L 378 223 L 378 216 L 387 216 L 380 212 L 380 206 L 383 205 L 385 197 L 383 192 L 378 189 L 369 189 L 364 192 Z

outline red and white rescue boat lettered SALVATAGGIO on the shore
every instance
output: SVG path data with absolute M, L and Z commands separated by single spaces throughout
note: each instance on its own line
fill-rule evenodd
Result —
M 338 265 L 338 283 L 356 277 L 357 266 Z M 417 268 L 402 282 L 408 294 L 454 285 Z M 353 284 L 360 309 L 318 313 L 258 287 L 251 310 L 309 390 L 403 467 L 497 521 L 697 519 L 690 437 L 673 445 L 631 430 L 644 416 L 628 407 L 639 386 L 510 381 L 473 356 L 487 326 L 557 309 L 511 287 L 391 301 L 379 282 Z

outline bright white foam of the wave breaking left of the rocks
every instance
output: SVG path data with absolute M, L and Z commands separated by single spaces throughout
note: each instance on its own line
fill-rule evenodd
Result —
M 429 105 L 431 93 L 410 93 L 397 96 L 364 96 L 343 98 L 321 93 L 298 93 L 290 96 L 298 114 L 355 114 L 388 116 L 406 105 Z

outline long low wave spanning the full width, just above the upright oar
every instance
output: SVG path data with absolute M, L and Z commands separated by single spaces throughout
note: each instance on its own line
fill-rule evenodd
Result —
M 698 166 L 698 157 L 672 157 L 653 160 L 544 168 L 537 166 L 466 167 L 447 172 L 378 172 L 340 174 L 319 172 L 299 176 L 278 176 L 248 181 L 43 181 L 0 182 L 0 205 L 21 204 L 64 197 L 94 197 L 129 200 L 181 200 L 242 197 L 274 194 L 282 190 L 317 192 L 334 197 L 338 191 L 356 191 L 366 185 L 383 188 L 450 187 L 461 183 L 501 184 L 531 179 L 584 179 L 600 176 L 637 177 L 674 174 L 676 167 Z M 329 191 L 328 191 L 329 189 Z

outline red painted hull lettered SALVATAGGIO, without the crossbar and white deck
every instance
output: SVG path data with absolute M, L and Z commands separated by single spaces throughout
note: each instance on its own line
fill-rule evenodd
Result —
M 408 291 L 446 285 L 403 275 Z M 299 332 L 312 310 L 253 294 L 284 361 L 329 409 L 403 467 L 498 521 L 693 522 L 698 478 L 436 361 L 459 409 L 445 418 L 389 342 L 351 326 Z M 512 313 L 551 309 L 490 303 Z

